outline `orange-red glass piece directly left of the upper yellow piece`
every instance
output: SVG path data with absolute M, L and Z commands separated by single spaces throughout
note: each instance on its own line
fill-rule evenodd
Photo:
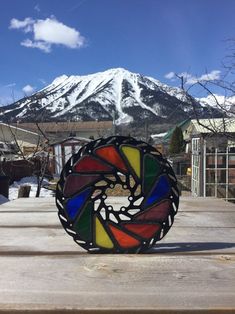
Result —
M 116 148 L 113 145 L 108 145 L 105 147 L 101 147 L 95 150 L 95 153 L 103 158 L 104 160 L 110 162 L 115 167 L 119 168 L 122 171 L 127 171 L 126 166 L 121 159 L 121 156 L 117 152 Z

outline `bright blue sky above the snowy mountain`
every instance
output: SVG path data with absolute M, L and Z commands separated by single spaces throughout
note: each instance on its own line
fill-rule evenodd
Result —
M 114 67 L 175 86 L 171 72 L 218 78 L 234 12 L 234 0 L 0 0 L 0 104 Z

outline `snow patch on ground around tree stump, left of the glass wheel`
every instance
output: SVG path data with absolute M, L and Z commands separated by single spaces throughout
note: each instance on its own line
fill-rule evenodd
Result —
M 20 181 L 14 181 L 13 184 L 10 186 L 9 189 L 9 200 L 14 200 L 18 198 L 18 190 L 21 185 L 30 185 L 31 190 L 29 197 L 35 197 L 36 191 L 37 191 L 37 178 L 36 177 L 25 177 L 22 178 Z M 43 185 L 48 185 L 48 180 L 44 179 L 42 186 Z M 52 197 L 53 192 L 50 190 L 47 190 L 42 187 L 41 192 L 40 192 L 40 197 Z

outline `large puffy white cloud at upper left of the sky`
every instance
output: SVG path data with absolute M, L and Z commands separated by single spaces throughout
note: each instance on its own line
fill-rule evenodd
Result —
M 85 44 L 85 38 L 79 31 L 57 21 L 55 17 L 45 20 L 33 20 L 28 17 L 23 21 L 13 18 L 9 28 L 21 29 L 25 33 L 32 32 L 33 39 L 26 38 L 21 45 L 27 48 L 37 48 L 47 53 L 51 52 L 52 45 L 76 49 Z

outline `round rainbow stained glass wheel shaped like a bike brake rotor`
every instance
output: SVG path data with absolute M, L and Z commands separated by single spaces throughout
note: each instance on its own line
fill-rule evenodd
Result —
M 115 192 L 125 196 L 110 196 Z M 148 250 L 171 228 L 178 204 L 169 162 L 151 145 L 123 136 L 84 145 L 56 189 L 64 229 L 89 252 Z

